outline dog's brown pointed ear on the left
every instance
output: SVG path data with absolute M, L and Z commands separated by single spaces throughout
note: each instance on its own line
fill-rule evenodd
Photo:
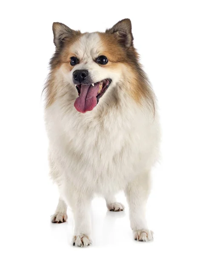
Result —
M 65 24 L 59 22 L 54 22 L 52 29 L 54 33 L 54 44 L 57 47 L 57 49 L 62 48 L 66 38 L 70 38 L 72 36 L 80 34 L 80 31 L 70 29 Z

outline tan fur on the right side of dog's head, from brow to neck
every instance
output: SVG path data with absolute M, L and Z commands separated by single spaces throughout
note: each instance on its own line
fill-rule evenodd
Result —
M 102 52 L 102 55 L 109 58 L 109 63 L 103 67 L 116 69 L 120 67 L 120 64 L 125 64 L 126 76 L 124 79 L 128 79 L 129 86 L 127 87 L 126 84 L 123 84 L 125 86 L 122 89 L 126 90 L 138 104 L 143 105 L 145 101 L 148 102 L 149 108 L 154 112 L 155 96 L 146 77 L 142 77 L 140 74 L 141 70 L 137 70 L 137 65 L 139 67 L 141 66 L 137 51 L 133 46 L 129 47 L 129 51 L 133 53 L 137 63 L 130 62 L 127 59 L 127 52 L 120 47 L 117 42 L 117 35 L 108 33 L 99 33 L 99 35 L 102 41 L 102 46 L 106 48 L 106 50 Z

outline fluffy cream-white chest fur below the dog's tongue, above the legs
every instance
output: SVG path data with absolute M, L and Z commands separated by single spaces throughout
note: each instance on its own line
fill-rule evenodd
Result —
M 129 97 L 114 99 L 106 108 L 99 105 L 82 114 L 66 93 L 46 109 L 50 158 L 60 166 L 51 174 L 54 180 L 70 180 L 95 192 L 117 191 L 157 160 L 157 116 Z

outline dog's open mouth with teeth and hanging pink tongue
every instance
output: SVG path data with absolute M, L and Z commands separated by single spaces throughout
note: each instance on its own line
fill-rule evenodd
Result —
M 110 84 L 111 79 L 104 79 L 94 84 L 76 84 L 78 91 L 78 98 L 74 102 L 76 110 L 81 113 L 93 110 Z

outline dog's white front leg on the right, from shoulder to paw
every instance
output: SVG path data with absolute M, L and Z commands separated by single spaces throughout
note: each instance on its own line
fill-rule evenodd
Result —
M 146 201 L 150 190 L 150 174 L 144 172 L 130 182 L 125 190 L 134 239 L 151 241 L 153 232 L 148 229 L 145 217 Z

